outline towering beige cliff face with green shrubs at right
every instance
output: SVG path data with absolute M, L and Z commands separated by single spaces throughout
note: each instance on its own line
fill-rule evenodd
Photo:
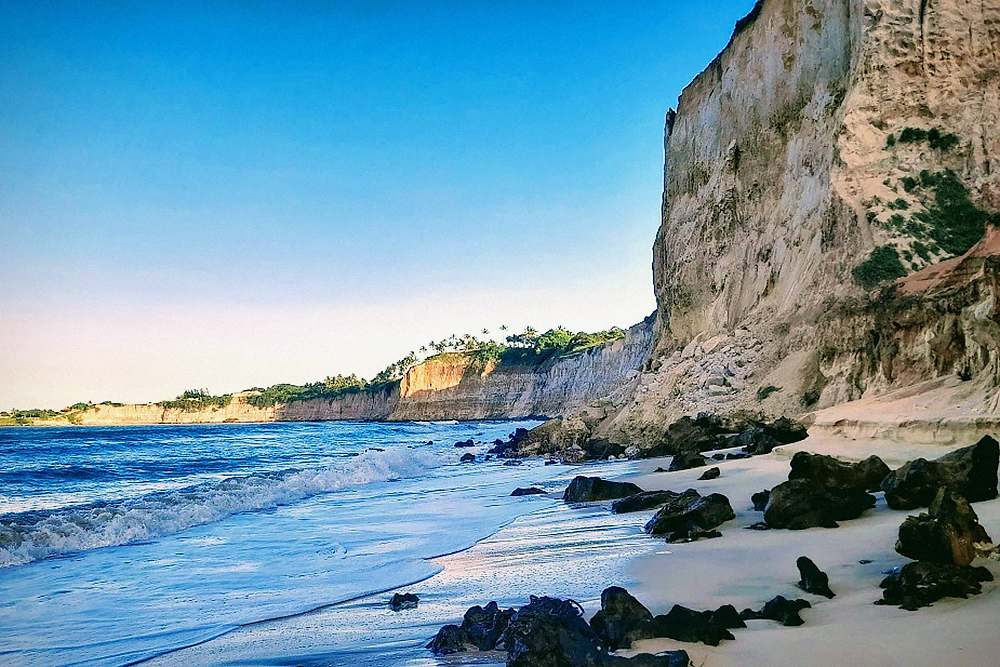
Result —
M 700 409 L 802 412 L 986 369 L 956 353 L 889 370 L 948 327 L 927 317 L 899 339 L 886 313 L 920 309 L 871 290 L 961 254 L 1000 210 L 998 102 L 1000 0 L 758 3 L 668 116 L 661 326 L 597 435 L 649 441 Z M 948 326 L 953 347 L 978 345 Z

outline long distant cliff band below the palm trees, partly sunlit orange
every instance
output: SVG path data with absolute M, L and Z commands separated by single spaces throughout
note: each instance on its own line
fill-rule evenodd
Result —
M 445 354 L 411 368 L 398 383 L 257 407 L 256 392 L 234 394 L 202 409 L 96 405 L 76 421 L 99 424 L 189 424 L 272 421 L 421 421 L 556 417 L 620 390 L 638 376 L 653 347 L 655 318 L 623 338 L 540 364 L 498 364 L 464 353 Z

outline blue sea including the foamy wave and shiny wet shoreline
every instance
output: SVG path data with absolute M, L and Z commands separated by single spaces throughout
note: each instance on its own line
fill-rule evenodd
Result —
M 511 539 L 525 549 L 557 533 L 573 549 L 588 521 L 609 521 L 604 510 L 561 514 L 558 494 L 577 467 L 484 460 L 493 440 L 535 424 L 0 428 L 0 664 L 168 664 L 171 656 L 185 665 L 436 664 L 426 662 L 427 634 L 439 616 L 460 618 L 476 591 L 457 595 L 454 608 L 425 605 L 409 620 L 386 610 L 388 591 L 421 582 L 444 590 L 426 583 L 442 570 L 431 559 L 505 527 L 522 531 Z M 454 446 L 470 438 L 475 447 Z M 477 462 L 459 463 L 469 451 Z M 529 485 L 552 495 L 510 496 Z M 518 529 L 539 512 L 536 519 L 566 532 Z M 620 530 L 630 539 L 639 533 Z M 622 549 L 647 548 L 616 544 L 611 569 Z M 524 549 L 514 552 L 520 558 Z M 558 564 L 550 571 L 555 583 L 545 591 L 529 591 L 512 574 L 494 583 L 500 594 L 518 585 L 524 595 L 560 586 L 592 594 L 580 582 L 593 573 L 559 573 Z M 455 598 L 460 576 L 450 581 Z M 302 618 L 324 613 L 340 614 L 325 622 L 326 640 L 301 630 Z M 248 628 L 256 634 L 232 649 Z M 254 648 L 262 633 L 266 649 Z M 195 646 L 197 655 L 185 649 Z M 224 658 L 213 657 L 216 646 L 229 646 Z

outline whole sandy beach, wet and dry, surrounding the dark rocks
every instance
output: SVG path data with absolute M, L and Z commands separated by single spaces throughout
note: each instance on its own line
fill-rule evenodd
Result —
M 569 597 L 589 617 L 600 608 L 607 586 L 627 588 L 654 614 L 673 604 L 714 609 L 732 604 L 759 609 L 775 595 L 812 603 L 802 613 L 805 625 L 782 627 L 750 621 L 734 630 L 736 639 L 718 647 L 672 640 L 637 642 L 632 650 L 657 652 L 683 648 L 698 667 L 830 664 L 871 667 L 1000 664 L 1000 591 L 988 582 L 983 594 L 967 600 L 945 599 L 915 612 L 876 606 L 883 572 L 907 559 L 895 553 L 899 524 L 908 514 L 886 507 L 881 494 L 873 510 L 840 528 L 803 531 L 753 531 L 761 520 L 750 495 L 787 478 L 795 451 L 835 454 L 860 460 L 877 453 L 892 468 L 917 457 L 936 458 L 970 443 L 907 444 L 852 439 L 824 433 L 778 448 L 773 454 L 720 463 L 722 475 L 698 481 L 704 469 L 653 472 L 669 459 L 624 462 L 578 474 L 601 474 L 636 482 L 644 489 L 719 492 L 728 496 L 736 519 L 723 524 L 723 536 L 690 544 L 667 544 L 642 532 L 652 510 L 612 514 L 609 503 L 568 505 L 552 488 L 549 497 L 528 497 L 537 506 L 472 548 L 435 561 L 442 572 L 399 589 L 420 596 L 416 609 L 395 613 L 380 594 L 318 612 L 239 628 L 201 646 L 185 649 L 152 665 L 502 665 L 501 653 L 469 652 L 436 658 L 422 648 L 445 623 L 460 623 L 474 604 L 497 600 L 520 606 L 529 595 Z M 1000 500 L 973 505 L 987 532 L 1000 537 Z M 832 600 L 796 587 L 796 558 L 808 556 L 830 577 Z M 862 564 L 860 561 L 869 560 Z M 1000 579 L 1000 563 L 985 559 Z

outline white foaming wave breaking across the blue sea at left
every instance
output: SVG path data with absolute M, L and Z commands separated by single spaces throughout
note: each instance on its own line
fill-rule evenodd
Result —
M 0 567 L 179 533 L 242 512 L 267 510 L 374 482 L 415 477 L 438 457 L 368 450 L 336 465 L 230 477 L 138 498 L 0 517 Z

